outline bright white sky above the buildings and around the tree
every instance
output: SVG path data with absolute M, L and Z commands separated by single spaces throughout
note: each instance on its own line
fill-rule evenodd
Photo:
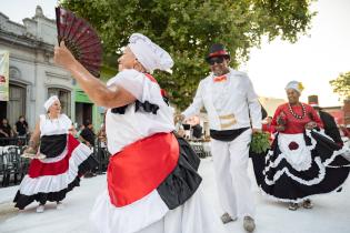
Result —
M 37 4 L 44 16 L 54 18 L 57 0 L 0 0 L 0 12 L 22 23 L 34 16 Z M 329 81 L 350 71 L 350 0 L 319 0 L 311 9 L 318 11 L 312 28 L 297 43 L 263 41 L 240 67 L 260 97 L 286 99 L 286 84 L 297 80 L 306 88 L 301 101 L 317 94 L 321 107 L 341 105 Z

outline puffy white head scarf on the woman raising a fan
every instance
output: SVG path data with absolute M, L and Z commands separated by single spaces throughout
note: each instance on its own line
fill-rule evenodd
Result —
M 171 72 L 170 68 L 172 68 L 173 61 L 170 54 L 153 43 L 148 37 L 133 33 L 129 38 L 128 47 L 150 73 L 157 69 Z

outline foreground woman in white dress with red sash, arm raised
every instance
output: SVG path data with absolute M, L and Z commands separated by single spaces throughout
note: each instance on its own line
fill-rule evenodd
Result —
M 172 131 L 173 114 L 150 74 L 173 61 L 149 38 L 134 33 L 107 83 L 94 79 L 69 52 L 54 60 L 68 69 L 89 98 L 108 109 L 106 133 L 112 154 L 108 189 L 97 199 L 91 221 L 103 233 L 213 233 L 222 226 L 208 210 L 197 173 L 199 159 Z

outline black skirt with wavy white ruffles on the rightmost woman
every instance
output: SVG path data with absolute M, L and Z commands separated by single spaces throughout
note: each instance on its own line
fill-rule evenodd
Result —
M 350 170 L 343 152 L 322 132 L 279 133 L 266 156 L 261 189 L 286 202 L 340 191 Z

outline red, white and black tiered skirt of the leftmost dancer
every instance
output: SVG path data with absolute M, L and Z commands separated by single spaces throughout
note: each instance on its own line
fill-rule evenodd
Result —
M 33 201 L 41 204 L 62 201 L 68 192 L 79 186 L 80 176 L 98 165 L 92 151 L 73 136 L 62 134 L 47 139 L 40 152 L 47 152 L 48 156 L 31 161 L 14 196 L 16 207 L 20 210 Z

